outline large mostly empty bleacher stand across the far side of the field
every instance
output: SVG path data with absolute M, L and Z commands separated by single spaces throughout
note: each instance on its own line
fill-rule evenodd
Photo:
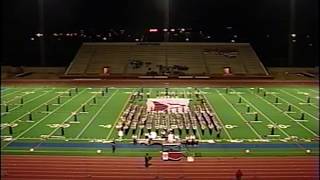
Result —
M 270 77 L 248 43 L 83 43 L 64 77 Z M 225 74 L 224 68 L 231 72 Z

